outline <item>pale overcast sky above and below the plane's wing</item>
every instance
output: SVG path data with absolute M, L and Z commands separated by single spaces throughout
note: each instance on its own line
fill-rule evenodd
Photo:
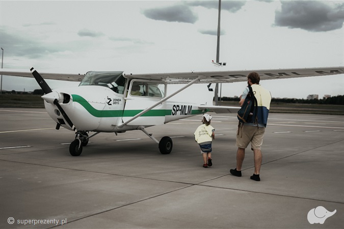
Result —
M 222 0 L 219 59 L 226 66 L 218 68 L 211 64 L 216 61 L 218 1 L 1 0 L 0 46 L 3 68 L 38 72 L 337 67 L 344 66 L 343 22 L 343 0 Z M 78 84 L 47 82 L 52 89 Z M 246 84 L 223 83 L 221 96 L 240 96 Z M 274 98 L 344 95 L 343 74 L 260 84 Z M 2 88 L 33 91 L 39 86 L 32 78 L 3 76 Z

